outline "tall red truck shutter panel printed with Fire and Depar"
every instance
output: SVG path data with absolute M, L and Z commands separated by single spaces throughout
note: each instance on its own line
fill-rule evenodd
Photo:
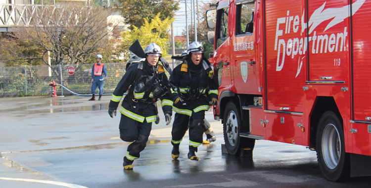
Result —
M 302 0 L 265 1 L 265 106 L 270 111 L 303 112 L 307 61 L 301 20 Z

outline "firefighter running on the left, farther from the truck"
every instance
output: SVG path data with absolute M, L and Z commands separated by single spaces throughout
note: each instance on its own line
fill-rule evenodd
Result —
M 152 128 L 152 122 L 158 120 L 156 101 L 161 99 L 162 110 L 167 125 L 172 115 L 172 94 L 170 84 L 162 65 L 159 65 L 161 48 L 151 43 L 144 48 L 145 60 L 128 67 L 125 75 L 117 84 L 109 103 L 108 113 L 116 115 L 116 109 L 125 96 L 121 108 L 120 138 L 133 142 L 128 146 L 124 157 L 124 169 L 133 169 L 134 159 L 139 158 L 144 150 Z M 156 118 L 157 117 L 157 118 Z M 158 121 L 157 121 L 158 123 Z

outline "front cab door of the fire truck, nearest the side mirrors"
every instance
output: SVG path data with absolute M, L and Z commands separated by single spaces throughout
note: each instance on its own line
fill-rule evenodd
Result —
M 222 2 L 222 1 L 221 1 Z M 231 39 L 229 36 L 229 1 L 220 3 L 217 7 L 217 23 L 215 26 L 214 62 L 217 63 L 219 85 L 231 85 Z M 223 78 L 223 79 L 222 79 Z

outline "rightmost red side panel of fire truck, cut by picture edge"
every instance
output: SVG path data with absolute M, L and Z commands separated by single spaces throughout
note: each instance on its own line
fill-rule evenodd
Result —
M 371 141 L 371 1 L 352 4 L 352 133 L 353 152 L 370 155 Z

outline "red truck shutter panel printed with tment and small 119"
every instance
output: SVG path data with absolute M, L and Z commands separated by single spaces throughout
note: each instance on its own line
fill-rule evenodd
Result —
M 308 1 L 307 83 L 341 84 L 349 79 L 348 8 L 344 0 Z

